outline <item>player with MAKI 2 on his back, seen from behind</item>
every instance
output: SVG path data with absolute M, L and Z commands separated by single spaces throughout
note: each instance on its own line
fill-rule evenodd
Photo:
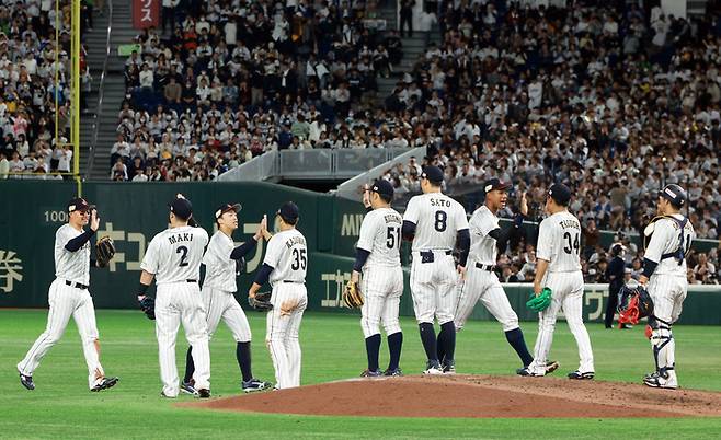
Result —
M 201 260 L 208 244 L 208 233 L 195 228 L 193 205 L 182 195 L 170 204 L 170 228 L 159 232 L 148 245 L 140 268 L 138 302 L 142 303 L 156 279 L 156 336 L 160 358 L 161 396 L 174 398 L 180 392 L 175 366 L 175 337 L 183 324 L 185 337 L 193 347 L 193 380 L 198 397 L 210 397 L 210 352 L 205 306 L 198 278 Z M 147 312 L 146 312 L 147 313 Z M 152 319 L 152 317 L 151 317 Z

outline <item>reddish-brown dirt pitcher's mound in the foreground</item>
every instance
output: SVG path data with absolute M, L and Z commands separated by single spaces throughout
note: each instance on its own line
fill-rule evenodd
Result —
M 721 416 L 721 393 L 559 378 L 353 379 L 181 404 L 221 410 L 385 417 Z

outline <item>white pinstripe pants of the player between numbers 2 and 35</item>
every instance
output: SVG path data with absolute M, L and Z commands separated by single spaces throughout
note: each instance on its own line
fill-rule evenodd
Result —
M 207 313 L 208 338 L 213 337 L 222 319 L 237 343 L 250 343 L 251 332 L 248 317 L 233 292 L 203 287 L 201 294 Z

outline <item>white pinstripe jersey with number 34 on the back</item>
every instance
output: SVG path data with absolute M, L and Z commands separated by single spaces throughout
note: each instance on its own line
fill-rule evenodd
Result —
M 548 271 L 581 270 L 581 223 L 569 211 L 541 221 L 536 256 L 549 263 Z

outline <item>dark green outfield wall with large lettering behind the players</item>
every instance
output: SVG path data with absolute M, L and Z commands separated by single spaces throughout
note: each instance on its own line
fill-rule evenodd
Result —
M 147 244 L 167 228 L 167 204 L 176 193 L 193 201 L 195 217 L 209 232 L 214 231 L 213 212 L 224 202 L 240 202 L 241 225 L 234 239 L 248 240 L 264 213 L 272 219 L 286 200 L 300 208 L 299 230 L 308 239 L 308 290 L 311 310 L 348 311 L 340 306 L 340 294 L 350 279 L 354 245 L 365 210 L 363 206 L 340 197 L 265 183 L 90 183 L 83 195 L 98 205 L 101 228 L 95 238 L 110 235 L 118 253 L 108 269 L 93 269 L 91 292 L 96 308 L 135 308 L 140 260 Z M 3 209 L 0 211 L 0 306 L 46 308 L 47 288 L 54 279 L 53 246 L 55 231 L 67 221 L 67 201 L 76 194 L 76 185 L 58 182 L 5 181 L 0 183 Z M 263 258 L 263 244 L 248 258 L 253 273 Z M 339 256 L 344 255 L 344 256 Z M 239 278 L 241 292 L 247 291 L 251 275 Z M 412 315 L 407 291 L 401 313 Z M 700 290 L 699 290 L 700 289 Z M 513 308 L 522 320 L 536 320 L 525 308 L 529 286 L 506 288 Z M 603 287 L 590 286 L 584 301 L 584 317 L 603 317 L 607 298 Z M 244 298 L 244 294 L 240 297 Z M 693 288 L 684 305 L 682 322 L 721 324 L 721 288 Z M 489 319 L 479 306 L 476 319 Z

